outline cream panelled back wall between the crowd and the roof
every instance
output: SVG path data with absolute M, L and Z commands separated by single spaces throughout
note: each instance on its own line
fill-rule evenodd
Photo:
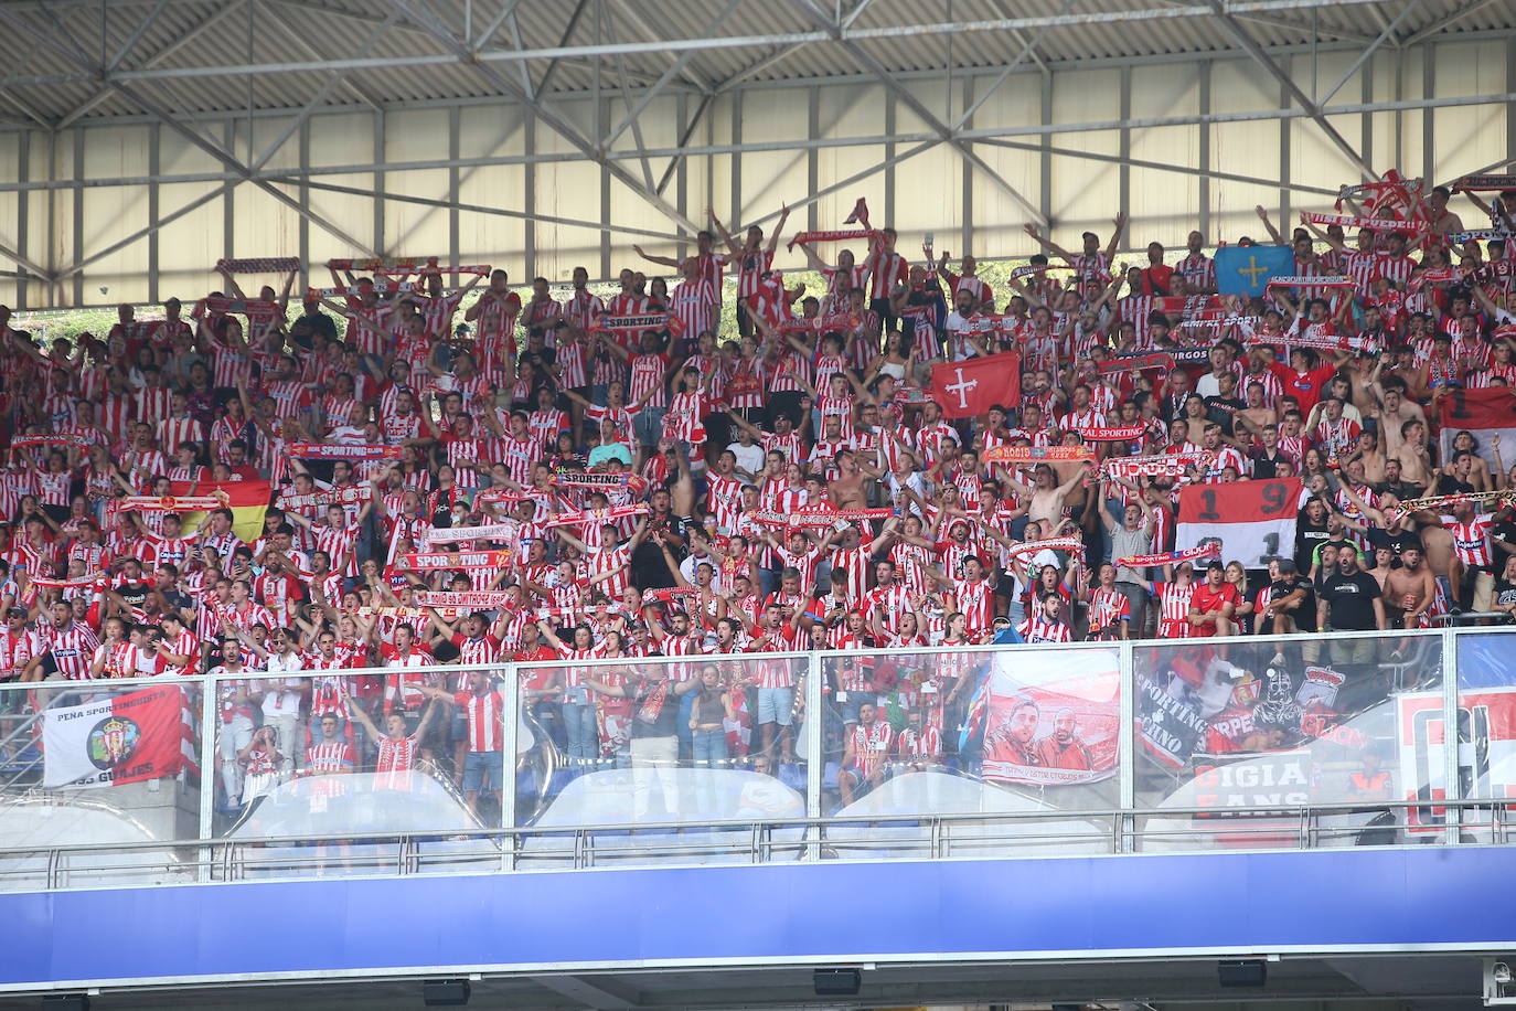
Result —
M 1436 95 L 1496 94 L 1507 88 L 1507 42 L 1504 39 L 1474 39 L 1440 42 L 1436 50 L 1416 47 L 1393 50 L 1386 47 L 1364 68 L 1348 77 L 1333 105 L 1352 105 L 1366 97 L 1375 102 L 1398 99 L 1420 99 L 1425 89 L 1424 61 L 1431 59 Z M 1314 56 L 1299 53 L 1281 58 L 1283 65 L 1307 94 L 1320 95 L 1336 83 L 1355 59 L 1354 52 L 1320 52 Z M 1134 120 L 1193 115 L 1199 109 L 1199 71 L 1196 61 L 1176 59 L 1163 65 L 1134 65 L 1131 76 L 1129 114 Z M 1364 77 L 1369 86 L 1364 88 Z M 979 76 L 972 88 L 987 88 L 993 77 Z M 1031 127 L 1040 121 L 1043 77 L 1037 73 L 1014 73 L 976 111 L 970 129 Z M 964 105 L 964 80 L 955 74 L 944 77 L 911 79 L 907 86 L 932 117 L 952 123 Z M 885 108 L 888 92 L 878 83 L 819 83 L 817 133 L 825 138 L 875 138 L 885 133 Z M 970 94 L 976 94 L 970 92 Z M 740 99 L 738 99 L 740 95 Z M 753 88 L 750 91 L 723 94 L 706 111 L 705 121 L 690 138 L 691 146 L 728 144 L 734 138 L 749 144 L 775 144 L 788 138 L 803 138 L 810 133 L 808 88 Z M 635 97 L 632 102 L 635 103 Z M 740 112 L 734 105 L 740 100 Z M 1213 65 L 1211 111 L 1219 115 L 1266 112 L 1278 106 L 1280 88 L 1266 71 L 1246 59 L 1220 59 Z M 670 149 L 681 138 L 679 99 L 664 95 L 643 111 L 640 127 L 643 142 L 649 147 Z M 684 108 L 693 115 L 697 99 L 687 95 Z M 928 132 L 928 124 L 911 111 L 907 102 L 896 99 L 896 135 Z M 1052 117 L 1058 123 L 1093 123 L 1119 118 L 1122 105 L 1122 71 L 1114 67 L 1060 70 L 1052 77 Z M 606 135 L 626 115 L 628 103 L 612 86 L 611 79 L 602 89 L 602 108 L 597 111 L 588 99 L 558 100 L 555 112 L 565 117 L 585 135 Z M 1424 123 L 1420 111 L 1342 114 L 1331 117 L 1333 124 L 1352 144 L 1363 144 L 1364 156 L 1378 168 L 1401 168 L 1407 174 L 1420 176 L 1427 171 L 1437 182 L 1481 168 L 1498 161 L 1508 150 L 1505 109 L 1499 106 L 1463 106 L 1439 109 L 1434 115 L 1434 161 L 1424 158 Z M 384 156 L 391 164 L 446 159 L 450 153 L 450 114 L 447 109 L 394 111 L 385 115 Z M 374 155 L 376 117 L 367 111 L 323 114 L 311 121 L 309 159 L 315 168 L 341 168 L 368 162 Z M 235 115 L 226 123 L 209 123 L 199 127 L 214 142 L 230 142 L 240 159 L 261 158 L 287 129 L 290 120 L 264 117 L 252 126 L 249 144 L 247 121 Z M 509 158 L 526 153 L 526 111 L 512 102 L 481 105 L 459 109 L 456 149 L 462 158 Z M 1202 133 L 1204 130 L 1204 133 Z M 159 133 L 158 164 L 165 176 L 212 174 L 224 171 L 223 165 L 206 152 L 185 141 L 174 130 L 162 127 Z M 1281 135 L 1289 138 L 1289 153 L 1281 165 Z M 17 133 L 0 135 L 0 180 L 18 176 Z M 102 124 L 65 130 L 56 136 L 41 132 L 30 135 L 29 174 L 32 179 L 68 179 L 74 171 L 74 142 L 83 138 L 83 174 L 91 179 L 117 176 L 146 176 L 150 171 L 149 138 L 152 130 L 138 124 Z M 1231 121 L 1210 126 L 1155 126 L 1132 129 L 1129 135 L 1131 156 L 1142 161 L 1173 164 L 1198 168 L 1201 164 L 1201 138 L 1210 146 L 1210 165 L 1217 171 L 1275 179 L 1281 174 L 1313 186 L 1334 188 L 1354 182 L 1357 167 L 1343 155 L 1313 121 L 1295 118 L 1283 124 L 1278 120 Z M 1022 133 L 1008 139 L 1035 149 L 1040 136 Z M 1057 147 L 1117 156 L 1120 152 L 1119 130 L 1075 130 L 1051 136 Z M 897 141 L 896 153 L 904 153 L 914 141 Z M 56 150 L 50 152 L 50 147 Z M 623 155 L 635 149 L 631 129 L 612 144 Z M 575 218 L 590 223 L 602 220 L 602 170 L 590 164 L 582 153 L 549 127 L 535 129 L 535 150 L 543 155 L 562 155 L 572 161 L 526 165 L 479 165 L 458 170 L 459 202 L 511 211 L 528 209 L 528 180 L 535 186 L 535 209 L 541 214 Z M 1051 208 L 1054 238 L 1063 244 L 1078 241 L 1084 229 L 1107 236 L 1110 220 L 1119 208 L 1119 180 L 1122 170 L 1116 164 L 1093 159 L 1054 156 L 1049 192 L 1041 192 L 1041 158 L 1037 150 L 1019 150 L 975 146 L 991 171 L 1010 186 L 1020 191 L 1034 206 L 1045 200 Z M 779 149 L 753 152 L 741 156 L 700 155 L 685 162 L 687 217 L 696 223 L 705 221 L 705 208 L 714 206 L 722 218 L 738 227 L 744 221 L 769 217 L 782 202 L 796 202 L 808 191 L 810 168 L 814 164 L 817 183 L 826 188 L 841 179 L 860 174 L 879 165 L 887 158 L 884 144 L 819 149 Z M 673 164 L 672 158 L 650 159 L 653 180 L 662 179 Z M 617 167 L 641 180 L 641 164 L 635 158 L 619 158 Z M 299 167 L 299 132 L 291 133 L 270 158 L 270 168 L 296 170 Z M 740 180 L 734 186 L 734 174 Z M 1140 246 L 1149 238 L 1163 241 L 1170 249 L 1182 244 L 1184 235 L 1201 217 L 1201 179 L 1193 174 L 1161 171 L 1158 168 L 1128 168 L 1128 209 L 1132 214 L 1129 243 Z M 361 192 L 335 194 L 317 188 L 309 191 L 312 211 L 337 223 L 362 243 L 373 239 L 374 203 L 367 196 L 374 188 L 373 171 L 344 171 L 338 174 L 312 176 L 314 183 L 350 186 Z M 969 206 L 964 205 L 966 173 L 961 156 L 948 147 L 937 147 L 893 168 L 893 209 L 885 205 L 884 171 L 841 186 L 814 205 L 817 227 L 841 227 L 841 218 L 854 202 L 864 196 L 875 212 L 876 223 L 894 224 L 902 232 L 902 250 L 919 258 L 922 235 L 935 233 L 938 249 L 954 253 L 973 252 L 979 256 L 1022 256 L 1032 252 L 1029 239 L 1022 232 L 1026 212 L 984 171 L 967 173 Z M 161 214 L 168 215 L 208 192 L 218 182 L 164 183 L 159 194 Z M 282 186 L 291 197 L 299 196 L 294 183 Z M 385 173 L 388 192 L 444 200 L 449 192 L 449 171 L 408 170 Z M 735 194 L 734 194 L 735 188 Z M 1236 241 L 1243 233 L 1261 235 L 1261 226 L 1254 214 L 1254 205 L 1263 205 L 1270 215 L 1278 214 L 1280 188 L 1276 185 L 1254 185 L 1213 179 L 1208 183 L 1210 239 Z M 80 255 L 88 256 L 103 250 L 132 232 L 146 227 L 146 186 L 100 186 L 83 191 L 83 241 L 74 250 L 74 202 L 68 189 L 55 192 L 35 191 L 27 194 L 0 194 L 0 243 L 20 241 L 18 208 L 29 212 L 27 249 L 30 258 L 59 265 L 73 264 Z M 679 200 L 678 176 L 670 179 L 664 197 L 670 203 Z M 1290 196 L 1295 211 L 1322 208 L 1328 197 L 1295 192 Z M 196 212 L 162 229 L 159 233 L 161 291 L 185 297 L 203 291 L 212 277 L 209 265 L 227 246 L 236 255 L 265 256 L 293 255 L 299 250 L 300 218 L 294 209 L 283 206 L 255 186 L 240 185 L 230 197 L 233 209 L 233 235 L 223 236 L 224 200 L 211 200 Z M 735 205 L 735 206 L 734 206 Z M 972 208 L 972 209 L 970 209 Z M 608 203 L 603 208 L 617 224 L 652 232 L 678 232 L 669 218 L 649 205 L 641 196 L 620 182 L 608 186 Z M 963 218 L 972 226 L 970 249 L 963 246 Z M 449 212 L 446 208 L 429 208 L 400 202 L 384 205 L 385 230 L 382 244 L 396 255 L 447 255 L 450 244 Z M 787 232 L 808 227 L 810 212 L 800 209 L 787 224 Z M 772 220 L 767 223 L 772 227 Z M 1284 223 L 1289 224 L 1289 223 Z M 320 262 L 330 256 L 358 253 L 352 244 L 327 235 L 320 226 L 309 224 L 311 259 Z M 465 261 L 494 262 L 511 271 L 512 280 L 526 280 L 525 243 L 528 227 L 520 218 L 502 215 L 459 212 L 458 246 Z M 634 264 L 631 252 L 640 243 L 661 253 L 672 253 L 672 239 L 644 238 L 612 232 L 602 236 L 596 227 L 537 223 L 534 227 L 537 256 L 535 271 L 553 282 L 567 280 L 575 265 L 584 265 L 591 276 L 602 273 L 602 247 L 609 250 L 609 265 L 619 268 Z M 855 253 L 863 253 L 863 244 L 855 243 Z M 834 258 L 840 246 L 828 246 L 823 256 Z M 781 250 L 778 262 L 782 267 L 800 267 L 803 258 Z M 111 303 L 120 297 L 146 296 L 147 241 L 112 253 L 91 264 L 83 279 L 88 303 Z M 109 288 L 102 294 L 99 288 Z M 61 286 L 71 297 L 73 283 Z M 14 299 L 12 280 L 0 279 L 0 299 Z M 33 305 L 47 300 L 41 285 L 32 285 Z

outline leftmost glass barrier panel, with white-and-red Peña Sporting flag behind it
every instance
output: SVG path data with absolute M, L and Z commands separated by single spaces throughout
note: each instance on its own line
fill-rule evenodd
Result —
M 0 685 L 0 888 L 194 881 L 180 853 L 45 849 L 194 840 L 200 828 L 199 681 Z

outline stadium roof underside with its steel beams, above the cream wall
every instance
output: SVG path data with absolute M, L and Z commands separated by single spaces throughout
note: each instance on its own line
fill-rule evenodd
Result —
M 3 0 L 9 118 L 517 99 L 632 86 L 719 94 L 1088 59 L 1404 47 L 1516 29 L 1507 0 Z M 330 83 L 334 74 L 341 80 Z

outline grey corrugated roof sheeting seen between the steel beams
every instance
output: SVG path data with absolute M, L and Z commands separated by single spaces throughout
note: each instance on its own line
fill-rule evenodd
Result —
M 1336 41 L 1339 33 L 1352 38 L 1372 38 L 1383 24 L 1402 11 L 1407 0 L 1386 0 L 1378 5 L 1351 5 L 1340 8 L 1317 8 L 1313 11 L 1270 11 L 1236 15 L 1249 36 L 1260 45 L 1301 45 L 1313 38 Z M 847 0 L 843 9 L 858 0 Z M 570 44 L 584 45 L 597 38 L 638 44 L 635 52 L 622 55 L 628 71 L 637 76 L 637 83 L 655 80 L 670 65 L 675 56 L 658 49 L 661 38 L 713 36 L 761 36 L 813 30 L 814 26 L 800 17 L 799 8 L 787 9 L 776 17 L 769 3 L 741 0 L 722 21 L 709 30 L 711 21 L 726 6 L 726 0 L 605 0 L 606 20 L 603 30 L 596 26 L 596 8 L 590 6 L 579 18 Z M 1163 9 L 1164 0 L 873 0 L 854 26 L 860 29 L 905 29 L 899 35 L 864 41 L 863 50 L 891 71 L 941 71 L 948 61 L 949 44 L 954 67 L 996 67 L 1008 62 L 1038 29 L 1020 33 L 966 30 L 948 36 L 911 35 L 910 26 L 946 21 L 990 21 L 1001 18 L 1041 17 L 1057 14 L 1087 15 L 1087 21 L 1054 26 L 1040 33 L 1037 55 L 1051 62 L 1079 59 L 1132 58 L 1149 55 L 1182 55 L 1193 52 L 1236 50 L 1236 41 L 1213 18 L 1173 17 L 1145 20 L 1113 20 L 1123 11 Z M 517 29 L 522 45 L 528 49 L 556 47 L 562 42 L 578 0 L 523 2 L 517 9 Z M 817 6 L 831 11 L 832 3 L 817 0 Z M 141 8 L 106 8 L 108 18 L 102 26 L 91 8 L 71 12 L 68 26 L 71 39 L 59 44 L 80 50 L 80 59 L 99 62 L 100 53 L 112 59 L 138 32 L 152 5 Z M 431 11 L 447 30 L 462 33 L 467 29 L 481 35 L 502 9 L 497 3 L 468 0 L 431 0 Z M 262 0 L 253 11 L 252 39 L 246 6 L 241 0 L 203 0 L 165 5 L 143 30 L 141 38 L 123 55 L 124 70 L 144 67 L 235 67 L 249 58 L 258 62 L 318 62 L 323 58 L 343 58 L 356 53 L 370 32 L 384 24 L 390 8 L 385 3 L 364 0 Z M 1107 15 L 1102 18 L 1102 15 Z M 1460 15 L 1460 17 L 1455 17 Z M 55 36 L 52 20 L 41 11 L 15 14 L 27 26 L 45 38 Z M 273 23 L 277 18 L 277 24 Z M 214 27 L 196 35 L 197 29 L 214 21 Z M 103 32 L 102 32 L 103 27 Z M 1446 38 L 1466 39 L 1478 32 L 1516 29 L 1516 5 L 1492 3 L 1467 9 L 1466 0 L 1422 0 L 1399 26 L 1399 35 L 1408 36 L 1422 30 L 1436 30 Z M 182 39 L 191 38 L 190 44 Z M 511 49 L 514 45 L 509 23 L 502 24 L 488 39 L 488 49 Z M 397 23 L 376 39 L 370 50 L 381 59 L 403 59 L 417 55 L 450 55 L 450 50 L 435 39 L 429 30 L 414 24 Z M 585 89 L 593 80 L 591 58 L 564 59 L 555 71 L 555 91 Z M 690 77 L 700 85 L 719 85 L 747 68 L 758 65 L 749 80 L 825 80 L 837 76 L 863 73 L 857 61 L 831 42 L 814 42 L 800 47 L 755 45 L 720 47 L 696 52 L 688 56 L 681 77 Z M 508 61 L 491 62 L 493 71 L 506 80 L 517 80 L 518 65 Z M 547 70 L 546 61 L 531 64 L 534 88 Z M 11 76 L 58 76 L 79 74 L 79 62 L 53 52 L 42 44 L 29 44 L 20 65 L 9 68 Z M 326 83 L 329 74 L 320 70 L 288 71 L 277 74 L 226 74 L 214 77 L 186 77 L 155 82 L 139 82 L 155 100 L 167 103 L 176 112 L 217 112 L 235 115 L 246 109 L 249 89 L 253 105 L 264 109 L 297 109 L 303 106 Z M 688 86 L 688 83 L 685 82 Z M 61 118 L 80 103 L 91 99 L 99 85 L 91 80 L 65 80 L 49 85 L 14 85 L 14 94 L 39 115 Z M 615 59 L 602 61 L 602 88 L 614 94 L 619 88 Z M 364 106 L 364 97 L 381 103 L 405 103 L 420 100 L 452 100 L 499 94 L 500 88 L 473 67 L 438 64 L 426 67 L 379 67 L 355 70 L 346 83 L 330 89 L 327 105 Z M 111 95 L 96 103 L 88 115 L 115 117 L 139 115 L 141 111 L 127 99 Z

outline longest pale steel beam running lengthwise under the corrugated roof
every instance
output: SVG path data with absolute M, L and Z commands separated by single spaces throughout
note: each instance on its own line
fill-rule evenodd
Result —
M 614 2 L 614 0 L 612 0 Z M 773 35 L 723 35 L 717 38 L 656 38 L 650 29 L 643 26 L 637 17 L 629 17 L 634 30 L 646 38 L 644 42 L 597 42 L 585 45 L 558 45 L 547 49 L 493 49 L 475 52 L 452 39 L 452 33 L 441 23 L 434 24 L 452 42 L 447 47 L 459 47 L 467 53 L 467 62 L 473 65 L 488 65 L 520 61 L 550 61 L 576 59 L 596 56 L 637 56 L 646 55 L 650 49 L 664 53 L 682 53 L 687 50 L 705 52 L 717 49 L 773 49 L 807 42 L 869 42 L 881 39 L 917 39 L 932 35 L 963 35 L 969 32 L 1017 32 L 1040 27 L 1078 27 L 1088 24 L 1126 24 L 1139 21 L 1170 21 L 1181 18 L 1234 17 L 1243 14 L 1258 14 L 1269 11 L 1313 11 L 1319 8 L 1343 8 L 1383 3 L 1384 0 L 1234 0 L 1216 3 L 1186 3 L 1167 8 L 1145 8 L 1135 11 L 1110 11 L 1099 14 L 1061 14 L 1045 17 L 991 18 L 981 21 L 937 21 L 925 24 L 890 24 L 881 27 L 852 29 L 817 29 L 810 32 L 784 32 Z M 9 14 L 9 11 L 8 11 Z M 24 24 L 11 15 L 17 26 Z M 420 24 L 412 21 L 412 24 Z M 435 32 L 429 32 L 437 38 Z M 438 39 L 441 41 L 441 39 Z M 17 74 L 0 79 L 0 86 L 14 85 L 58 85 L 79 80 L 106 80 L 130 83 L 135 80 L 170 80 L 179 77 L 244 77 L 249 74 L 285 74 L 285 73 L 324 73 L 330 70 L 397 70 L 408 67 L 447 67 L 459 62 L 458 52 L 418 53 L 414 56 L 384 56 L 384 58 L 340 58 L 329 61 L 291 61 L 276 64 L 223 64 L 208 67 L 164 67 L 150 70 L 126 70 L 114 74 L 103 71 L 79 71 L 64 74 Z M 685 67 L 685 74 L 691 71 Z M 693 83 L 700 91 L 714 91 L 714 85 L 694 77 Z

